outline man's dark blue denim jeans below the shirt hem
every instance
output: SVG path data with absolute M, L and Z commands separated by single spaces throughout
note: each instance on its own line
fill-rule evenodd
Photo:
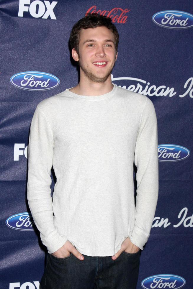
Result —
M 65 258 L 47 253 L 42 289 L 136 289 L 140 251 L 123 251 L 116 260 L 82 255 L 81 261 L 72 253 Z

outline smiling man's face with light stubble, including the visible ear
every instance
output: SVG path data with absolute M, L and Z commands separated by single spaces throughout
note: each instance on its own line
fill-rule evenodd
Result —
M 117 60 L 114 34 L 102 26 L 82 29 L 79 39 L 79 52 L 73 49 L 72 54 L 81 73 L 93 82 L 106 81 Z

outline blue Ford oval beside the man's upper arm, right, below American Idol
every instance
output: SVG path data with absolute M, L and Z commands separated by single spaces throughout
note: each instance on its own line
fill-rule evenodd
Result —
M 158 160 L 161 162 L 176 162 L 189 157 L 190 151 L 177 144 L 159 144 Z

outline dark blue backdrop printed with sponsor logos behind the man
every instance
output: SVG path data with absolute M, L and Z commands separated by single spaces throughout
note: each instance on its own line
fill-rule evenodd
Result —
M 112 82 L 148 96 L 158 119 L 159 197 L 137 288 L 192 289 L 191 0 L 0 1 L 0 288 L 40 288 L 46 248 L 26 197 L 30 123 L 40 101 L 78 83 L 69 36 L 88 12 L 119 31 Z M 53 191 L 53 170 L 52 179 Z

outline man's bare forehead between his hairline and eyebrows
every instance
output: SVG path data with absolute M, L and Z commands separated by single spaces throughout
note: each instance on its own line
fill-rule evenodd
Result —
M 81 29 L 79 34 L 79 43 L 84 42 L 86 39 L 94 39 L 96 41 L 112 39 L 115 42 L 115 35 L 105 26 Z

